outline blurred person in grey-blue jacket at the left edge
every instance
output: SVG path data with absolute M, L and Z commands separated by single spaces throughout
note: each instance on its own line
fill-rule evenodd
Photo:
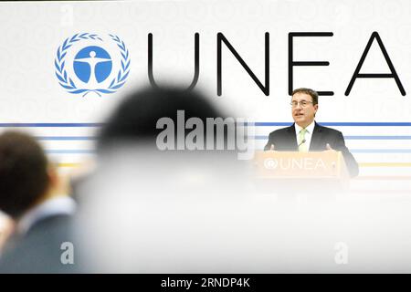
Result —
M 62 255 L 75 208 L 67 183 L 37 141 L 24 132 L 3 132 L 0 209 L 13 219 L 15 230 L 0 256 L 0 273 L 68 272 L 72 266 Z

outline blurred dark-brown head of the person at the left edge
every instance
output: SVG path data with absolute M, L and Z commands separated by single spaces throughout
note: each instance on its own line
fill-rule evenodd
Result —
M 47 193 L 47 158 L 30 135 L 5 131 L 0 135 L 0 209 L 18 218 Z

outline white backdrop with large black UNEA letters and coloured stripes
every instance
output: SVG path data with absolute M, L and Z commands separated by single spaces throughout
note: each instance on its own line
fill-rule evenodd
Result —
M 292 122 L 290 90 L 308 87 L 321 93 L 316 120 L 342 130 L 360 162 L 353 185 L 404 191 L 410 14 L 407 0 L 1 3 L 1 129 L 30 130 L 70 166 L 92 158 L 121 97 L 152 80 L 255 121 L 261 149 Z

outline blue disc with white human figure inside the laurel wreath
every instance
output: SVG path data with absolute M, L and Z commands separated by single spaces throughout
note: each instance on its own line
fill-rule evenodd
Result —
M 84 47 L 74 57 L 73 68 L 81 81 L 90 86 L 98 86 L 110 76 L 111 56 L 102 47 Z

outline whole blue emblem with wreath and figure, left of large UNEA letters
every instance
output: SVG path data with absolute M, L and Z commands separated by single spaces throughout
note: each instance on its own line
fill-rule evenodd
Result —
M 130 73 L 129 50 L 119 36 L 83 33 L 68 37 L 54 61 L 58 84 L 72 94 L 113 93 Z

